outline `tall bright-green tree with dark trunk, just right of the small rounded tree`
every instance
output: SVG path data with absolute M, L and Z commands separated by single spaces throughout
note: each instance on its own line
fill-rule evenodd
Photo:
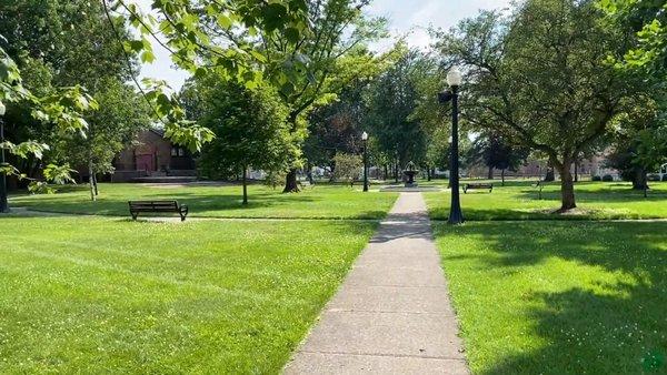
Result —
M 280 95 L 289 108 L 295 135 L 306 135 L 307 114 L 317 105 L 330 102 L 349 83 L 365 80 L 378 71 L 380 60 L 368 51 L 367 43 L 386 34 L 384 19 L 368 19 L 362 9 L 369 0 L 309 0 L 309 32 L 296 43 L 287 34 L 262 34 L 268 77 L 295 67 L 280 84 Z M 299 140 L 299 136 L 295 136 Z M 287 174 L 285 192 L 297 192 L 297 160 Z

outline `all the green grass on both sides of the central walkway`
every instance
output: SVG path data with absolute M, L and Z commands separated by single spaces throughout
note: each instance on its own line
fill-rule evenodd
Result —
M 425 193 L 474 373 L 666 372 L 667 223 L 597 220 L 667 217 L 667 184 L 644 199 L 579 183 L 581 210 L 554 215 L 557 182 L 542 200 L 529 181 L 495 183 L 461 194 L 458 227 L 437 222 L 449 193 Z M 0 373 L 277 373 L 397 195 L 252 185 L 242 206 L 239 186 L 102 184 L 94 203 L 84 186 L 12 196 L 109 216 L 0 219 Z M 118 217 L 142 199 L 291 220 Z M 554 219 L 579 221 L 536 221 Z

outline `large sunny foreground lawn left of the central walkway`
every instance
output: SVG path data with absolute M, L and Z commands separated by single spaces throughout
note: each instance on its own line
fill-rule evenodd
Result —
M 0 373 L 277 373 L 376 226 L 0 219 Z

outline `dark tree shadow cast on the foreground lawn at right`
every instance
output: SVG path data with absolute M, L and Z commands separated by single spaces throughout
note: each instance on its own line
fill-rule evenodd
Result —
M 593 280 L 579 282 L 568 278 L 576 273 L 563 270 L 559 282 L 585 287 L 509 292 L 531 306 L 525 318 L 536 322 L 531 335 L 545 344 L 515 351 L 521 354 L 502 358 L 484 374 L 667 373 L 667 223 L 519 223 L 514 230 L 486 223 L 438 230 L 479 239 L 489 249 L 445 256 L 445 264 L 474 259 L 478 272 L 502 278 L 545 277 L 531 267 L 552 257 L 606 271 L 605 278 L 591 271 L 584 276 Z

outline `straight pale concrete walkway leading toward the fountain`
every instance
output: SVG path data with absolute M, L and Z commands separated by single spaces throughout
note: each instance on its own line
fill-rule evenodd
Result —
M 468 374 L 421 193 L 402 193 L 286 374 Z

